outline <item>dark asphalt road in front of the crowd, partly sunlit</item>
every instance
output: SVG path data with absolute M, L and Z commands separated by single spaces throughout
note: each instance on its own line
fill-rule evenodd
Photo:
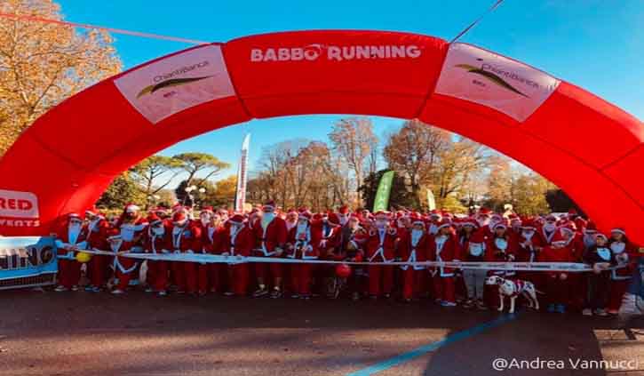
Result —
M 640 320 L 624 331 L 616 319 L 519 312 L 476 332 L 498 317 L 430 302 L 0 292 L 0 375 L 343 375 L 445 339 L 377 374 L 644 375 Z M 498 357 L 566 367 L 498 372 Z M 602 359 L 617 369 L 570 364 Z

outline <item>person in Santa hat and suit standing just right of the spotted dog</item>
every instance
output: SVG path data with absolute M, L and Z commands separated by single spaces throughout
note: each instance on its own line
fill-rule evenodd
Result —
M 539 262 L 574 262 L 572 245 L 561 230 L 555 231 L 552 241 L 537 256 Z M 545 272 L 545 295 L 548 312 L 566 312 L 570 300 L 570 281 L 568 272 Z

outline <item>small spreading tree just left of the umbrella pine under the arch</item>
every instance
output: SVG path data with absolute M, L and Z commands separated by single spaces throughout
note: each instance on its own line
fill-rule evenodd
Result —
M 171 156 L 148 156 L 130 168 L 132 179 L 146 196 L 155 196 L 182 171 L 183 161 Z M 163 180 L 160 181 L 160 178 Z M 150 200 L 148 200 L 150 201 Z M 147 205 L 146 205 L 147 206 Z M 147 207 L 146 207 L 147 209 Z

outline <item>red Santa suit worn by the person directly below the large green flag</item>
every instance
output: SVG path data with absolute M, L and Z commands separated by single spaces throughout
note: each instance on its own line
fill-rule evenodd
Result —
M 394 262 L 397 238 L 398 233 L 395 228 L 373 228 L 367 241 L 367 260 L 370 262 Z M 380 292 L 386 295 L 390 294 L 394 285 L 394 267 L 370 265 L 367 269 L 370 295 L 379 296 Z

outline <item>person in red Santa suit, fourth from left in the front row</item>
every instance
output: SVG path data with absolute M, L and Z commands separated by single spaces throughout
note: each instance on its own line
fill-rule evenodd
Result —
M 171 242 L 168 228 L 164 221 L 151 214 L 147 217 L 149 226 L 144 237 L 144 249 L 146 253 L 155 255 L 171 253 Z M 156 292 L 159 296 L 168 293 L 168 268 L 166 260 L 147 260 L 147 292 Z

